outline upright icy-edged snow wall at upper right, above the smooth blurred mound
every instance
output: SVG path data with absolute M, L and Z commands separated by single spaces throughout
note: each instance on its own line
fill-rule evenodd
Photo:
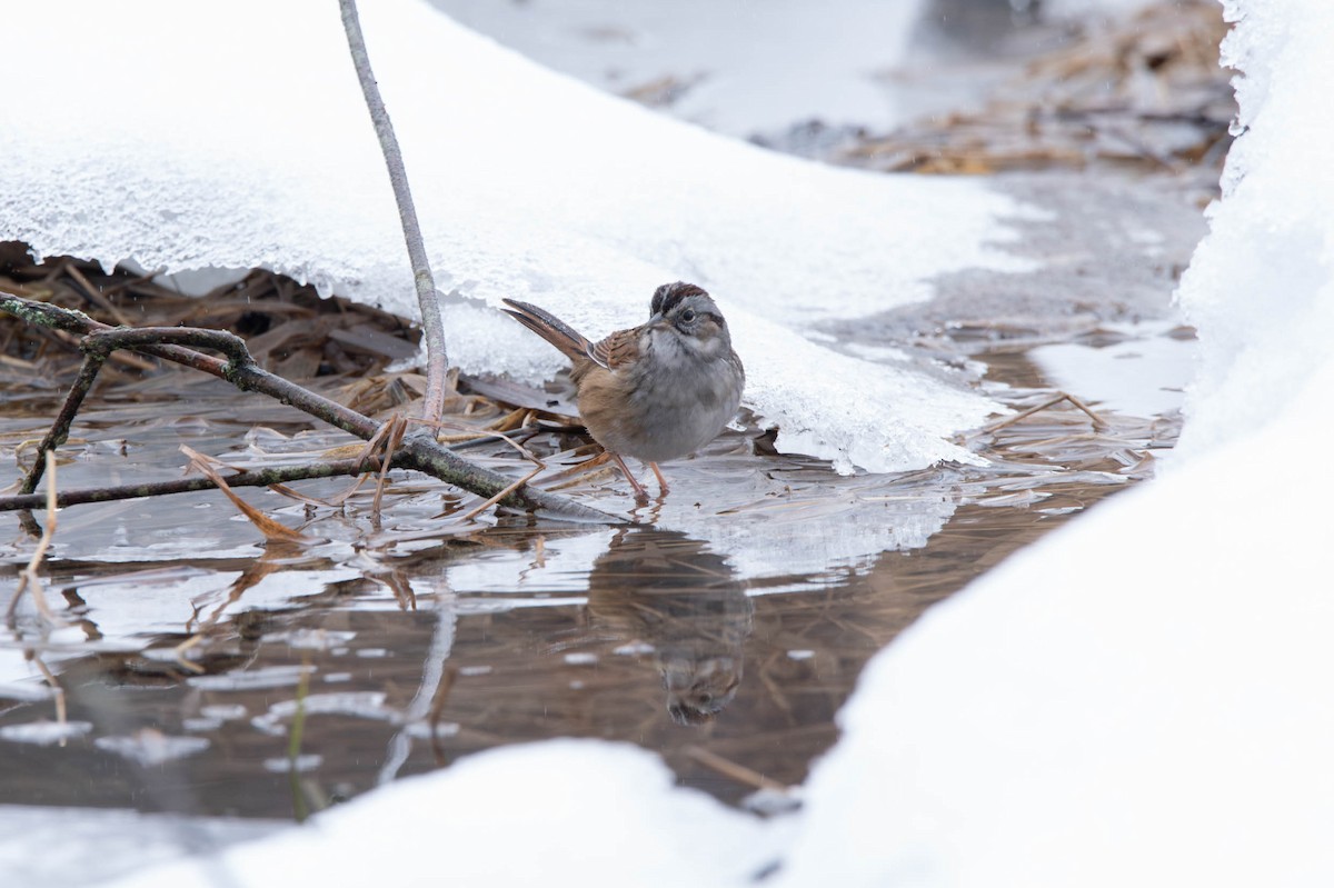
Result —
M 1239 127 L 1210 236 L 1182 279 L 1199 328 L 1199 373 L 1178 452 L 1201 453 L 1263 425 L 1330 359 L 1334 341 L 1334 7 L 1229 0 L 1223 61 Z M 1294 444 L 1297 444 L 1294 441 Z M 1299 453 L 1307 452 L 1297 444 Z

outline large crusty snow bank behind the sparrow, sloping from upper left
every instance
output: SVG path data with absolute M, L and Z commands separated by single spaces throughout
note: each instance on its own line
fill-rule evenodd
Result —
M 658 284 L 695 280 L 727 312 L 747 404 L 780 427 L 780 449 L 840 471 L 971 460 L 944 439 L 995 404 L 803 332 L 924 299 L 950 271 L 1021 268 L 994 247 L 1021 212 L 1010 199 L 776 156 L 538 68 L 423 4 L 366 5 L 438 283 L 456 291 L 455 363 L 527 380 L 562 365 L 490 307 L 500 297 L 599 336 L 644 320 Z M 61 0 L 9 11 L 7 28 L 24 40 L 0 109 L 0 239 L 167 272 L 261 265 L 415 313 L 327 3 Z

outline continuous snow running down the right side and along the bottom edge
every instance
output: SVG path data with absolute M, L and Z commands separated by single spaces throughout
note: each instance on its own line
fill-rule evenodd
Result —
M 880 652 L 799 815 L 723 809 L 636 749 L 510 747 L 235 849 L 233 884 L 1329 884 L 1334 549 L 1306 507 L 1334 499 L 1334 7 L 1226 9 L 1250 129 L 1181 289 L 1203 360 L 1174 471 Z

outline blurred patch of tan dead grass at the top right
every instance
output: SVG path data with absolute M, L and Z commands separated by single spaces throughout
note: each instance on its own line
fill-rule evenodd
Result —
M 1235 113 L 1230 72 L 1218 67 L 1225 32 L 1213 0 L 1155 5 L 1117 25 L 1090 25 L 1033 59 L 982 108 L 866 135 L 840 159 L 951 175 L 1095 164 L 1217 171 Z

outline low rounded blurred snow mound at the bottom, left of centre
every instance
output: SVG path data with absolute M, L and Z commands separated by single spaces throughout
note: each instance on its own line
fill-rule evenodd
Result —
M 676 791 L 672 780 L 656 756 L 623 744 L 494 749 L 382 787 L 211 865 L 183 861 L 116 884 L 679 888 L 750 884 L 776 859 L 786 831 Z

